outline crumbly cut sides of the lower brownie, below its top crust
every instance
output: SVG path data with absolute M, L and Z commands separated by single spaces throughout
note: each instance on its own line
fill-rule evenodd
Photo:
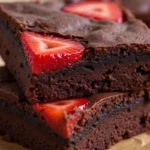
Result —
M 120 104 L 70 140 L 50 133 L 34 116 L 0 101 L 0 131 L 33 150 L 104 150 L 114 143 L 150 129 L 150 103 L 139 99 Z

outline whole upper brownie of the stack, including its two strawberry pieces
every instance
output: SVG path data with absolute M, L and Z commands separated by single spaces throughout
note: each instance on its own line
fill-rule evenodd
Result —
M 149 84 L 150 31 L 112 2 L 1 4 L 0 52 L 30 102 Z

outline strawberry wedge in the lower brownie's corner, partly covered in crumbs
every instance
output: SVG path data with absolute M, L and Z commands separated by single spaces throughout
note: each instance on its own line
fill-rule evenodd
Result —
M 46 104 L 34 104 L 33 109 L 60 136 L 68 139 L 81 119 L 81 111 L 88 105 L 86 98 L 63 100 Z

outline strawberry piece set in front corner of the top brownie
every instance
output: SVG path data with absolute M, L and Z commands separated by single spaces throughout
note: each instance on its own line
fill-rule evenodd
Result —
M 21 39 L 34 74 L 68 67 L 84 55 L 84 47 L 75 41 L 31 32 L 23 32 Z

